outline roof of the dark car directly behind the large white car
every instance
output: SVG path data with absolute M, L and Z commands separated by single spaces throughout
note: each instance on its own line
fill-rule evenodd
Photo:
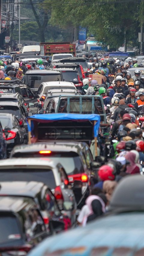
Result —
M 4 181 L 0 182 L 0 196 L 6 194 L 35 197 L 44 186 L 43 182 L 36 181 Z

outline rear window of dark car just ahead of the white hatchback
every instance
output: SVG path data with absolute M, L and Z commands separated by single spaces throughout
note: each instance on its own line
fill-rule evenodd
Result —
M 60 74 L 26 74 L 24 84 L 30 88 L 39 88 L 42 82 L 61 81 Z

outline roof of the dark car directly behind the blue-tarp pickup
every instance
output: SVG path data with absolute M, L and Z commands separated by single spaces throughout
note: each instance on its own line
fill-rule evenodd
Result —
M 48 141 L 48 142 L 38 142 L 30 145 L 19 145 L 15 146 L 14 152 L 38 152 L 40 150 L 51 150 L 51 151 L 61 151 L 61 152 L 78 152 L 82 150 L 85 146 L 88 147 L 85 142 L 77 141 Z

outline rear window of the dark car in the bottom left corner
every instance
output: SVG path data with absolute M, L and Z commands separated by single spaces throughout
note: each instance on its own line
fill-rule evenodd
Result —
M 19 230 L 18 223 L 16 221 L 16 217 L 13 215 L 0 216 L 0 245 L 3 244 L 11 244 L 16 240 L 18 242 L 21 239 L 21 234 Z

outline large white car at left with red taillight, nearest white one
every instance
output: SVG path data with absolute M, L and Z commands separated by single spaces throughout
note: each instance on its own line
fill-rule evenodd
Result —
M 43 151 L 40 150 L 42 153 Z M 59 162 L 47 157 L 11 158 L 0 161 L 1 181 L 36 181 L 45 183 L 55 195 L 60 210 L 76 221 L 76 200 L 67 174 Z M 64 206 L 67 206 L 66 209 Z

